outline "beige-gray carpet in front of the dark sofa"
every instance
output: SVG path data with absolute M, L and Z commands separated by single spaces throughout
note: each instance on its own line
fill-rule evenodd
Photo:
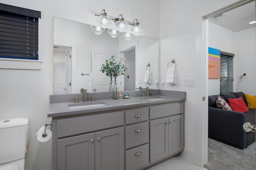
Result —
M 208 170 L 255 170 L 255 142 L 239 149 L 208 139 Z

